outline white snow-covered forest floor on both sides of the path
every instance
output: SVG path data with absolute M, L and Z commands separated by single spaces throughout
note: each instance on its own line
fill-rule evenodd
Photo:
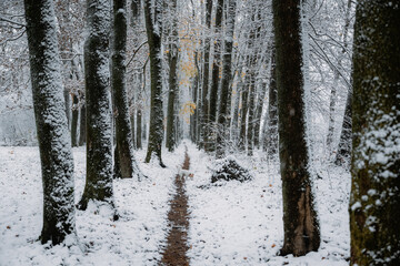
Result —
M 318 168 L 317 209 L 321 224 L 318 253 L 294 258 L 277 253 L 283 243 L 281 181 L 278 165 L 263 153 L 236 155 L 254 178 L 210 184 L 214 158 L 186 142 L 190 265 L 348 265 L 350 175 L 341 167 Z M 168 235 L 167 213 L 173 178 L 183 163 L 184 144 L 163 151 L 167 168 L 137 160 L 146 181 L 117 180 L 120 219 L 104 205 L 77 211 L 79 244 L 49 247 L 38 242 L 42 226 L 42 187 L 38 147 L 0 147 L 0 265 L 158 265 Z M 73 149 L 76 202 L 84 186 L 84 147 Z

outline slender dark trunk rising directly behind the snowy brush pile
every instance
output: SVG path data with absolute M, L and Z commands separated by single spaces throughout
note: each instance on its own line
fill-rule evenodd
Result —
M 224 52 L 222 55 L 222 80 L 221 80 L 221 95 L 219 101 L 219 114 L 217 132 L 217 157 L 222 157 L 224 154 L 223 142 L 227 141 L 229 135 L 227 134 L 228 123 L 227 117 L 230 115 L 230 105 L 228 108 L 229 85 L 232 80 L 232 52 L 233 52 L 233 33 L 234 33 L 234 19 L 236 19 L 236 1 L 229 0 L 227 4 L 227 20 L 226 20 L 226 37 L 224 37 Z

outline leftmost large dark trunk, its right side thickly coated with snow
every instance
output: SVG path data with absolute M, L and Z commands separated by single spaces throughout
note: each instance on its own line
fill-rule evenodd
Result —
M 64 111 L 52 0 L 26 0 L 34 116 L 43 185 L 41 242 L 60 244 L 76 233 L 73 160 Z

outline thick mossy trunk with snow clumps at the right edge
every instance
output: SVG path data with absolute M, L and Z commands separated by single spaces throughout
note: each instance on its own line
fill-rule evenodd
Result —
M 358 1 L 351 265 L 400 265 L 400 3 Z

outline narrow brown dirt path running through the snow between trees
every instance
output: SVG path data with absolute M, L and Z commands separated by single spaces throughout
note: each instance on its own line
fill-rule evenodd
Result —
M 189 170 L 190 158 L 188 155 L 188 147 L 184 152 L 184 162 L 182 170 Z M 181 266 L 189 265 L 187 252 L 189 249 L 187 244 L 189 214 L 188 214 L 188 196 L 184 190 L 184 175 L 177 174 L 174 185 L 177 192 L 171 200 L 171 209 L 168 213 L 168 223 L 171 231 L 167 237 L 167 247 L 162 253 L 162 265 Z

